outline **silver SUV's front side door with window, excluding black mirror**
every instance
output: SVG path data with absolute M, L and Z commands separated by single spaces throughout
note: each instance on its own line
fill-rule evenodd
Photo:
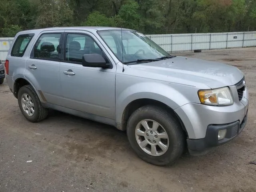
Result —
M 63 106 L 105 118 L 115 118 L 116 65 L 95 36 L 85 31 L 65 30 L 64 61 L 60 62 Z M 100 46 L 101 45 L 101 46 Z M 84 54 L 107 58 L 108 69 L 82 66 Z

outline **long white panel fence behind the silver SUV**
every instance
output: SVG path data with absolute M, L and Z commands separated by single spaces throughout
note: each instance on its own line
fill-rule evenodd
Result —
M 256 32 L 147 35 L 168 52 L 256 46 Z M 0 60 L 5 60 L 13 38 L 0 38 Z

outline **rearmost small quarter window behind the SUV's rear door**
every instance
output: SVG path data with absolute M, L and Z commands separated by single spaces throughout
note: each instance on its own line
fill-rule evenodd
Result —
M 33 38 L 33 36 L 34 36 L 34 34 L 19 35 L 12 47 L 11 56 L 23 57 L 23 55 L 26 51 L 26 48 L 27 48 L 30 40 Z

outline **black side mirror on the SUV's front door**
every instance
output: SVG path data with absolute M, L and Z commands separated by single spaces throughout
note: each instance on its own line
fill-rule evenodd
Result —
M 100 54 L 84 54 L 82 66 L 108 68 L 109 64 L 107 64 L 106 60 Z

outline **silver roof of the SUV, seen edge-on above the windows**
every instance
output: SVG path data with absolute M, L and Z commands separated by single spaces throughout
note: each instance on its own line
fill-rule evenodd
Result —
M 102 31 L 102 30 L 131 30 L 126 28 L 118 28 L 118 27 L 100 27 L 100 26 L 80 26 L 80 27 L 51 27 L 51 28 L 40 28 L 40 29 L 32 29 L 26 30 L 23 32 L 39 32 L 39 31 L 50 31 L 50 30 L 87 30 L 87 31 Z

